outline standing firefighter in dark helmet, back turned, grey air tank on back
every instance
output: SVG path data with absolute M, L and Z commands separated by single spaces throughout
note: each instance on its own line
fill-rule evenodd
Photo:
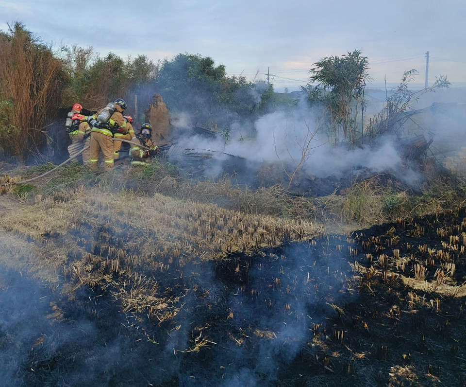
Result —
M 123 118 L 123 111 L 126 109 L 126 102 L 117 98 L 114 103 L 108 104 L 98 114 L 90 117 L 92 124 L 90 140 L 89 165 L 97 168 L 100 150 L 103 153 L 105 171 L 113 168 L 113 141 L 112 137 L 119 132 L 126 134 L 128 128 Z M 108 118 L 110 116 L 110 118 Z M 101 119 L 101 117 L 105 117 Z M 89 119 L 89 117 L 88 117 Z M 104 121 L 104 122 L 102 122 Z

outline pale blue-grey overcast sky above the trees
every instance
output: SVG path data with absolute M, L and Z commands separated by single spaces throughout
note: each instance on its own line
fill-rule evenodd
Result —
M 422 86 L 427 51 L 429 83 L 466 83 L 464 0 L 0 0 L 0 15 L 3 31 L 20 21 L 44 42 L 102 56 L 200 54 L 250 80 L 269 68 L 276 91 L 298 89 L 320 58 L 355 49 L 369 59 L 372 86 L 411 69 Z

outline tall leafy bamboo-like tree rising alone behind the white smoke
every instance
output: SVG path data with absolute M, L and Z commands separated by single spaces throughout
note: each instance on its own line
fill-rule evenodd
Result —
M 323 58 L 309 70 L 313 75 L 308 84 L 309 99 L 316 96 L 330 114 L 335 138 L 341 127 L 345 138 L 354 143 L 358 126 L 358 113 L 364 111 L 364 88 L 370 80 L 368 60 L 362 51 L 354 50 L 342 56 Z M 311 83 L 317 82 L 316 90 Z M 362 128 L 361 128 L 362 129 Z

